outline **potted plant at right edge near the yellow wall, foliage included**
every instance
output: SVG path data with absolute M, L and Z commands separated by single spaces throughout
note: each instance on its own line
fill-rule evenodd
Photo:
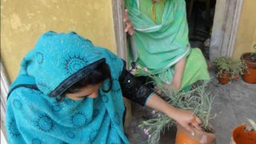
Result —
M 243 62 L 248 67 L 242 75 L 242 80 L 247 83 L 256 83 L 256 44 L 253 46 L 254 52 L 244 53 L 241 56 Z

